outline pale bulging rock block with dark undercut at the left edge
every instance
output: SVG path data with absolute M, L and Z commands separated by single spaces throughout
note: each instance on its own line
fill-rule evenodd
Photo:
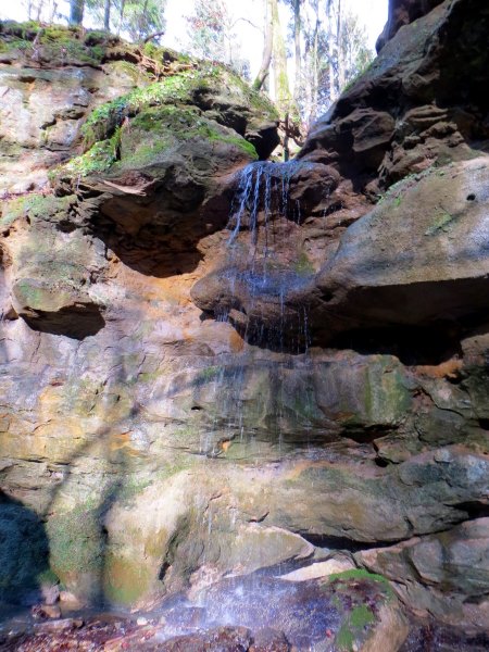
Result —
M 73 196 L 30 195 L 7 202 L 10 317 L 36 330 L 80 339 L 103 327 L 103 301 L 93 292 L 106 267 L 103 244 L 74 229 Z M 10 234 L 10 228 L 12 234 Z

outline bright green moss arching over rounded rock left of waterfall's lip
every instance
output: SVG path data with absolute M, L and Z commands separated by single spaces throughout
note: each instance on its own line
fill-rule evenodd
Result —
M 223 87 L 229 89 L 230 95 L 242 97 L 243 110 L 249 102 L 276 117 L 269 101 L 252 91 L 238 76 L 222 66 L 202 64 L 199 70 L 180 71 L 95 109 L 80 129 L 85 153 L 53 171 L 51 181 L 100 174 L 112 166 L 115 170 L 147 166 L 172 147 L 192 138 L 223 142 L 258 160 L 252 143 L 231 130 L 226 133 L 218 128 L 195 106 L 198 98 Z M 141 131 L 147 133 L 148 138 L 141 138 Z M 121 145 L 127 155 L 121 151 Z

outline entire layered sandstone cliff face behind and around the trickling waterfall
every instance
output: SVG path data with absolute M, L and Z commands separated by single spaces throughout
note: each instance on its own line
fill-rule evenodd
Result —
M 2 25 L 3 599 L 248 628 L 224 598 L 288 586 L 325 650 L 486 628 L 487 20 L 401 27 L 285 165 L 227 70 Z

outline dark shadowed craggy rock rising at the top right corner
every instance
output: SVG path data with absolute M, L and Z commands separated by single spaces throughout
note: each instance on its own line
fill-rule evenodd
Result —
M 472 150 L 479 150 L 488 137 L 481 117 L 486 100 L 477 97 L 488 63 L 486 4 L 392 4 L 388 26 L 396 29 L 399 24 L 396 8 L 410 24 L 388 40 L 365 75 L 319 118 L 300 154 L 334 165 L 376 193 L 435 162 L 472 158 Z M 422 17 L 411 23 L 417 15 Z

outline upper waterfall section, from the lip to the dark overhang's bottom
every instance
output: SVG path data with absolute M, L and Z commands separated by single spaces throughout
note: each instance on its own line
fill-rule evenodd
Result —
M 280 263 L 277 254 L 277 249 L 284 249 L 297 237 L 293 229 L 287 233 L 287 224 L 299 225 L 302 221 L 300 202 L 290 193 L 291 179 L 309 165 L 297 161 L 247 165 L 239 173 L 228 222 L 230 235 L 223 278 L 229 288 L 229 300 L 216 316 L 239 327 L 240 315 L 233 309 L 240 304 L 240 294 L 244 293 L 248 297 L 248 304 L 241 306 L 244 314 L 256 313 L 244 327 L 244 339 L 280 352 L 286 350 L 287 330 L 294 331 L 296 339 L 291 342 L 289 338 L 287 350 L 300 352 L 309 346 L 306 310 L 298 309 L 293 317 L 285 311 L 287 297 L 300 290 L 308 279 L 293 267 L 297 261 L 287 265 Z M 247 244 L 239 238 L 243 231 L 249 233 L 246 251 Z M 272 327 L 267 306 L 279 312 L 279 319 Z

